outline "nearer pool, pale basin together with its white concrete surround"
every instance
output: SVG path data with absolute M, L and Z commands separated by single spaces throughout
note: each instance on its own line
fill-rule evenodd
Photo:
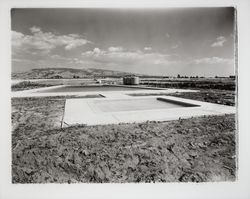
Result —
M 202 115 L 234 113 L 234 107 L 163 97 L 66 99 L 63 126 L 169 121 Z

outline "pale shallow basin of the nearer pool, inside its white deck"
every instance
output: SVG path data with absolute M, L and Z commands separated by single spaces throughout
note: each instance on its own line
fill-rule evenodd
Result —
M 174 101 L 163 101 L 157 98 L 121 99 L 94 101 L 95 106 L 101 112 L 138 111 L 153 109 L 171 109 L 181 107 L 193 107 L 192 104 L 180 104 Z

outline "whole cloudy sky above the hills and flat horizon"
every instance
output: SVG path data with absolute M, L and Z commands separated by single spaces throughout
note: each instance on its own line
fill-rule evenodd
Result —
M 12 9 L 12 71 L 99 68 L 229 76 L 233 8 Z

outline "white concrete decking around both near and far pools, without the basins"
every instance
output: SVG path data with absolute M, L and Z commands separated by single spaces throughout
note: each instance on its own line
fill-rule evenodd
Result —
M 190 118 L 204 115 L 223 115 L 236 112 L 236 108 L 201 102 L 196 100 L 184 99 L 172 96 L 163 96 L 176 92 L 199 92 L 188 89 L 135 89 L 124 91 L 91 91 L 91 92 L 40 92 L 48 89 L 62 88 L 65 85 L 51 86 L 46 88 L 31 89 L 26 91 L 12 92 L 12 97 L 53 97 L 53 96 L 102 96 L 103 98 L 72 98 L 66 99 L 63 116 L 63 127 L 77 124 L 85 125 L 106 125 L 118 123 L 133 123 L 145 121 L 169 121 L 179 118 Z M 135 87 L 134 87 L 135 88 Z M 145 89 L 146 88 L 146 89 Z M 130 96 L 130 94 L 154 94 L 154 96 Z M 158 96 L 157 96 L 158 95 Z M 148 109 L 145 104 L 145 110 L 126 110 L 126 111 L 101 111 L 96 106 L 96 102 L 109 102 L 115 100 L 140 100 L 161 97 L 166 100 L 173 100 L 179 103 L 188 103 L 198 105 L 196 107 L 176 107 L 176 108 L 157 108 Z M 104 103 L 105 104 L 105 103 Z M 122 106 L 122 105 L 120 105 Z

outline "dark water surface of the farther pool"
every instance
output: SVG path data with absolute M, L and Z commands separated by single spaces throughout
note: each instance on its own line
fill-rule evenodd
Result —
M 60 93 L 60 92 L 93 92 L 93 91 L 130 91 L 148 90 L 148 88 L 123 87 L 123 86 L 65 86 L 39 91 L 40 93 Z M 152 88 L 152 90 L 154 90 Z

